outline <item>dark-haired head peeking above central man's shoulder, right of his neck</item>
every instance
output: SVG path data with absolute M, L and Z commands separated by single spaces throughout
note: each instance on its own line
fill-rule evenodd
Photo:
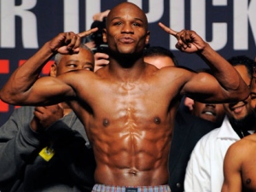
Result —
M 170 49 L 160 46 L 152 46 L 144 51 L 144 61 L 157 68 L 166 66 L 178 66 L 176 57 Z

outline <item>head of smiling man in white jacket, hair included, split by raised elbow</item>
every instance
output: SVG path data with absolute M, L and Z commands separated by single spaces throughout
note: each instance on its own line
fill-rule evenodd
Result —
M 229 60 L 234 66 L 245 83 L 250 86 L 253 76 L 253 60 L 247 56 L 235 56 Z M 225 112 L 230 119 L 230 124 L 234 127 L 251 129 L 253 110 L 250 105 L 251 97 L 241 102 L 224 103 Z

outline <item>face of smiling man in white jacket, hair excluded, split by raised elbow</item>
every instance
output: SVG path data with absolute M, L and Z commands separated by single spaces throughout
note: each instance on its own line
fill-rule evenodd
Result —
M 240 73 L 241 78 L 245 81 L 245 83 L 250 86 L 251 77 L 247 73 L 247 67 L 238 65 L 235 68 L 238 73 Z M 241 102 L 224 103 L 224 109 L 229 119 L 236 121 L 245 119 L 248 114 L 252 113 L 251 97 L 248 96 L 246 100 Z

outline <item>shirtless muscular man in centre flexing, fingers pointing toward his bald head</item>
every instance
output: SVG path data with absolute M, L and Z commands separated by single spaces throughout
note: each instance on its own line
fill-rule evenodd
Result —
M 94 187 L 95 191 L 108 190 L 105 185 L 169 190 L 165 185 L 168 153 L 182 96 L 201 102 L 232 102 L 249 94 L 236 69 L 195 32 L 174 32 L 161 23 L 160 27 L 177 38 L 177 49 L 196 52 L 207 61 L 216 79 L 206 73 L 178 67 L 157 69 L 145 63 L 148 20 L 142 9 L 125 2 L 108 14 L 103 33 L 109 46 L 108 66 L 96 73 L 79 70 L 38 79 L 49 57 L 56 52 L 76 53 L 80 37 L 96 29 L 79 34 L 64 32 L 18 68 L 0 92 L 0 98 L 11 104 L 70 103 L 86 129 L 96 157 L 95 179 L 100 184 Z

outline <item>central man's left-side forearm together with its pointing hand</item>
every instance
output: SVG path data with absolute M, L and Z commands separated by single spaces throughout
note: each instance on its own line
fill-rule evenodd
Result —
M 32 55 L 23 65 L 18 67 L 0 90 L 0 99 L 9 104 L 20 105 L 26 101 L 33 84 L 37 81 L 44 65 L 56 53 L 75 54 L 79 52 L 82 37 L 96 32 L 97 28 L 75 34 L 62 32 L 45 43 L 35 55 Z

